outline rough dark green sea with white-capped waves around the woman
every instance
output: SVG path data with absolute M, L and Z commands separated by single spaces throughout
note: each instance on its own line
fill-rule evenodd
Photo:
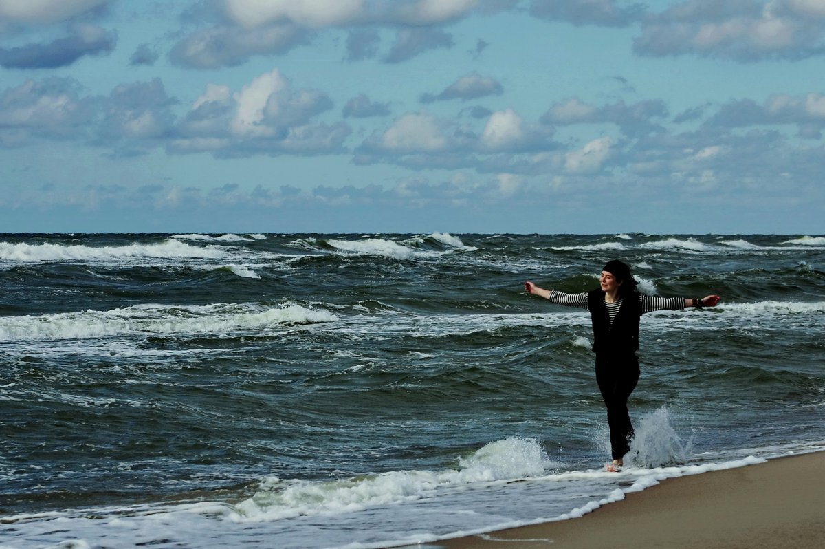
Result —
M 585 310 L 643 315 L 619 473 Z M 825 450 L 825 236 L 0 234 L 0 547 L 437 547 Z

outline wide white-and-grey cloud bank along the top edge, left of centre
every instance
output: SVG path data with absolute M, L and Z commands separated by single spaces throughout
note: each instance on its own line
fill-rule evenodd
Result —
M 345 59 L 373 59 L 379 52 L 379 31 L 388 28 L 395 31 L 395 40 L 384 60 L 401 63 L 452 47 L 452 36 L 441 26 L 474 12 L 515 6 L 515 0 L 214 0 L 186 17 L 196 26 L 208 20 L 214 26 L 186 35 L 170 58 L 196 69 L 236 66 L 253 55 L 285 54 L 309 44 L 325 29 L 347 28 Z

